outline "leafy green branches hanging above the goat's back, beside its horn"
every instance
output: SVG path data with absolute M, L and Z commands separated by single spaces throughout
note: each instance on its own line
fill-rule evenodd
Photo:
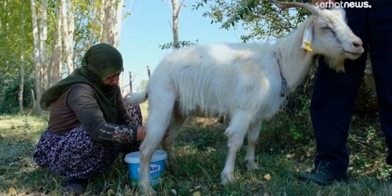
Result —
M 269 0 L 202 0 L 197 1 L 192 10 L 207 5 L 210 5 L 210 11 L 204 12 L 203 17 L 209 17 L 211 23 L 221 23 L 221 28 L 226 30 L 239 27 L 248 30 L 248 34 L 241 35 L 243 42 L 285 36 L 309 14 L 303 8 L 280 10 Z

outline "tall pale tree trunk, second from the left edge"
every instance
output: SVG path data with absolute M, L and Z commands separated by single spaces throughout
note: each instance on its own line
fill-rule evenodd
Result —
M 36 18 L 36 2 L 35 0 L 30 0 L 30 8 L 32 11 L 32 33 L 34 40 L 34 77 L 35 77 L 35 89 L 36 89 L 36 109 L 38 113 L 41 113 L 42 109 L 39 105 L 39 100 L 41 100 L 42 95 L 42 78 L 41 78 L 41 56 L 39 56 L 39 32 L 38 23 Z

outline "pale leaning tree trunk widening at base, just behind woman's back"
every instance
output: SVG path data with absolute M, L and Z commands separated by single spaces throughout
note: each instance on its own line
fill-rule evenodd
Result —
M 54 46 L 52 48 L 52 56 L 50 58 L 50 80 L 49 87 L 55 85 L 58 81 L 61 80 L 61 5 L 60 0 L 56 0 L 56 29 L 54 31 Z

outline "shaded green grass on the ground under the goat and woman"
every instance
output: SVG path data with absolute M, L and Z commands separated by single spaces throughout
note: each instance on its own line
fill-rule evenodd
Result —
M 147 118 L 147 105 L 142 104 Z M 62 195 L 62 178 L 43 170 L 32 160 L 34 147 L 47 124 L 48 116 L 20 114 L 0 116 L 0 195 Z M 181 173 L 165 172 L 159 195 L 392 195 L 388 180 L 391 167 L 384 164 L 386 146 L 377 119 L 353 118 L 347 144 L 351 154 L 351 182 L 318 186 L 298 182 L 299 172 L 310 171 L 314 136 L 308 105 L 295 116 L 281 111 L 261 127 L 256 151 L 257 171 L 247 171 L 243 163 L 247 141 L 237 155 L 234 184 L 219 184 L 226 160 L 225 124 L 217 119 L 190 118 L 175 140 L 174 151 Z M 270 175 L 270 180 L 265 179 Z M 120 156 L 105 173 L 89 179 L 85 195 L 139 195 L 129 184 L 127 168 Z M 12 190 L 12 189 L 11 189 Z M 11 191 L 12 192 L 12 191 Z

